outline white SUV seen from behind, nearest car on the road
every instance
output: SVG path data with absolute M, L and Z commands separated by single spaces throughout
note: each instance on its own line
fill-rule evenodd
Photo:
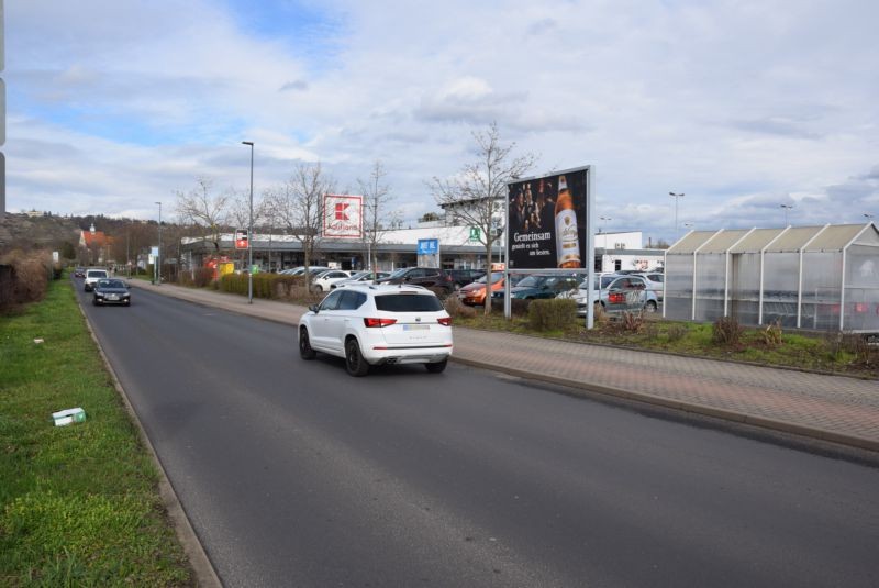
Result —
M 370 365 L 424 364 L 438 374 L 452 355 L 452 318 L 420 286 L 356 285 L 333 290 L 299 321 L 299 354 L 345 358 L 352 376 Z

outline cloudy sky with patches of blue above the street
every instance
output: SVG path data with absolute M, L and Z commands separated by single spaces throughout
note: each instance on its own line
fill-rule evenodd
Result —
M 471 132 L 596 166 L 607 231 L 879 218 L 879 2 L 5 0 L 7 209 L 157 217 L 380 159 L 403 218 Z

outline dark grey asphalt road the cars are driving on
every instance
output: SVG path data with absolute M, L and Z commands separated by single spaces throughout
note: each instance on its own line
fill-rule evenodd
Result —
M 84 308 L 226 586 L 879 586 L 869 459 L 134 296 Z

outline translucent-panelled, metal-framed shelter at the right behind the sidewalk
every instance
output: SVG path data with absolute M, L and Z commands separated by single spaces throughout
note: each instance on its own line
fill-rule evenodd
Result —
M 666 252 L 668 319 L 879 332 L 872 223 L 692 231 Z

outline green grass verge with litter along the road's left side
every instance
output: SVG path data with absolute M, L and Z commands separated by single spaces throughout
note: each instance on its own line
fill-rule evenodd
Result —
M 0 585 L 193 585 L 157 484 L 70 284 L 0 317 Z

